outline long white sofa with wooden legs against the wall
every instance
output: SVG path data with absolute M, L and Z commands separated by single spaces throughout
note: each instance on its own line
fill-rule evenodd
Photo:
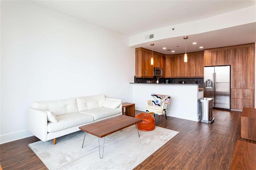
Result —
M 33 102 L 28 108 L 28 131 L 42 141 L 80 130 L 78 127 L 122 115 L 122 101 L 104 95 Z

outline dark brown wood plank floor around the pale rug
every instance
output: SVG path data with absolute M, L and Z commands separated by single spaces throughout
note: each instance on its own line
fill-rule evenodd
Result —
M 136 114 L 140 111 L 136 111 Z M 154 152 L 134 169 L 226 170 L 230 169 L 237 140 L 242 139 L 241 112 L 215 110 L 214 123 L 200 123 L 174 117 L 156 116 L 156 125 L 180 133 Z M 38 141 L 32 136 L 0 145 L 0 164 L 3 170 L 47 169 L 28 147 Z M 57 139 L 58 142 L 58 139 Z M 86 167 L 85 167 L 86 169 Z

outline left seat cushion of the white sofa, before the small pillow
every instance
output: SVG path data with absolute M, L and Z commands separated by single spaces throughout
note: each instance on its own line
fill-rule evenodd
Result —
M 94 121 L 94 117 L 91 115 L 84 115 L 82 113 L 70 113 L 66 115 L 57 116 L 58 123 L 48 122 L 48 132 L 57 132 L 66 128 L 90 123 Z

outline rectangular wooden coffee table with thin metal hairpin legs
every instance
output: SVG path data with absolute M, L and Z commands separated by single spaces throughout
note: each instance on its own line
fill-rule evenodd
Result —
M 138 119 L 135 117 L 129 117 L 129 116 L 125 116 L 125 115 L 119 115 L 116 117 L 112 117 L 109 119 L 105 119 L 102 121 L 84 125 L 82 127 L 79 127 L 79 129 L 84 131 L 84 139 L 85 139 L 85 136 L 87 133 L 90 133 L 90 134 L 98 137 L 99 152 L 100 152 L 100 138 L 104 137 L 102 156 L 100 154 L 100 159 L 102 159 L 103 152 L 104 152 L 104 145 L 105 145 L 105 136 L 108 136 L 109 134 L 112 134 L 112 133 L 122 130 L 124 128 L 130 127 L 132 125 L 136 125 L 136 127 L 137 127 L 137 123 L 140 121 L 142 121 L 142 119 Z M 137 132 L 140 137 L 138 128 L 137 128 Z M 83 146 L 84 146 L 84 140 L 83 140 L 82 148 L 83 148 Z

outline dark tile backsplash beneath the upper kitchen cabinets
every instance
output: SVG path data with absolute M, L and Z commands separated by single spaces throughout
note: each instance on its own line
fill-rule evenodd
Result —
M 157 77 L 153 78 L 136 78 L 134 77 L 134 83 L 147 83 L 147 81 L 156 81 Z M 159 83 L 165 83 L 165 80 L 169 80 L 169 84 L 179 84 L 184 81 L 185 84 L 197 84 L 199 87 L 204 87 L 204 78 L 159 78 Z

